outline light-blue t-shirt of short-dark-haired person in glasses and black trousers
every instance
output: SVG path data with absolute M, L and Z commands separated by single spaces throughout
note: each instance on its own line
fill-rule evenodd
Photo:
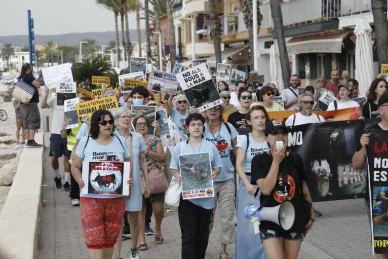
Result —
M 180 153 L 181 145 L 183 144 L 182 153 Z M 193 151 L 194 150 L 194 151 Z M 186 141 L 179 142 L 174 147 L 174 151 L 171 155 L 171 164 L 170 169 L 179 170 L 179 155 L 182 154 L 192 154 L 192 153 L 200 153 L 200 152 L 209 152 L 210 153 L 210 161 L 212 161 L 212 169 L 220 168 L 222 166 L 222 161 L 220 155 L 216 147 L 209 141 L 205 139 L 202 140 L 201 145 L 196 147 L 189 146 Z M 217 176 L 217 178 L 220 175 Z M 214 183 L 213 183 L 214 188 Z M 206 197 L 206 198 L 197 198 L 197 199 L 188 199 L 189 202 L 201 206 L 205 209 L 213 209 L 214 208 L 214 197 Z

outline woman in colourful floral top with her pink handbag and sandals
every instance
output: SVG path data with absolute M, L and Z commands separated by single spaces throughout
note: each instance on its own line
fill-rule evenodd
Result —
M 146 210 L 146 204 L 147 200 L 149 199 L 152 204 L 152 211 L 153 216 L 155 218 L 155 243 L 156 244 L 162 244 L 164 241 L 164 238 L 162 236 L 162 220 L 164 217 L 164 198 L 165 198 L 165 191 L 168 188 L 168 183 L 166 176 L 164 175 L 164 167 L 161 166 L 161 163 L 164 163 L 166 160 L 166 155 L 163 152 L 163 146 L 162 142 L 160 141 L 160 138 L 155 135 L 148 135 L 148 127 L 149 127 L 149 119 L 144 114 L 138 114 L 133 118 L 133 125 L 135 127 L 135 131 L 140 133 L 143 136 L 143 141 L 145 143 L 146 149 L 144 151 L 145 154 L 145 160 L 147 161 L 148 171 L 149 171 L 149 185 L 150 185 L 150 195 L 149 197 L 143 198 L 143 206 L 142 210 L 140 212 L 140 243 L 138 244 L 139 250 L 146 250 L 147 249 L 147 243 L 145 242 L 145 235 L 144 235 L 144 229 L 145 229 L 145 210 Z M 159 182 L 155 182 L 155 180 L 160 179 L 158 177 L 151 177 L 156 174 L 163 173 L 164 178 L 162 177 L 162 180 Z M 164 182 L 167 183 L 167 187 L 164 189 L 163 185 Z M 144 193 L 145 194 L 145 193 Z

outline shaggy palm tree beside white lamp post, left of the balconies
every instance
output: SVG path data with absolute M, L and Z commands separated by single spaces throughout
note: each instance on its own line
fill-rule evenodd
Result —
M 257 38 L 257 35 L 253 35 L 253 5 L 252 0 L 244 0 L 244 8 L 243 8 L 243 14 L 244 14 L 244 23 L 245 26 L 248 28 L 248 34 L 249 34 L 249 49 L 251 50 L 251 70 L 253 70 L 254 67 L 254 60 L 253 60 L 253 52 L 257 51 L 253 48 L 253 37 Z M 260 29 L 261 21 L 263 20 L 263 16 L 261 15 L 259 4 L 257 3 L 257 31 Z

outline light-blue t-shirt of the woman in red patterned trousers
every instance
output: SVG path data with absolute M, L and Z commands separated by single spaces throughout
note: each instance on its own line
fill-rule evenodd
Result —
M 87 145 L 86 145 L 86 142 L 88 142 Z M 78 143 L 75 154 L 80 158 L 84 158 L 84 161 L 123 162 L 124 159 L 129 158 L 128 147 L 125 143 L 126 143 L 125 139 L 122 136 L 117 136 L 117 135 L 113 136 L 113 141 L 107 145 L 100 145 L 92 137 L 89 137 L 89 141 L 88 141 L 88 136 L 86 136 L 81 139 L 80 143 Z M 86 184 L 88 183 L 85 182 L 85 185 Z M 100 199 L 123 197 L 123 195 L 104 195 L 104 194 L 80 194 L 80 196 L 89 197 L 89 198 L 100 198 Z

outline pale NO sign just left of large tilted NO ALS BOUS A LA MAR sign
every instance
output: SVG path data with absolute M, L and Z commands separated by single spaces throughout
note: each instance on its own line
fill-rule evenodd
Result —
M 167 92 L 176 94 L 178 80 L 173 73 L 167 73 L 159 70 L 152 70 L 149 75 L 148 90 L 154 92 Z

